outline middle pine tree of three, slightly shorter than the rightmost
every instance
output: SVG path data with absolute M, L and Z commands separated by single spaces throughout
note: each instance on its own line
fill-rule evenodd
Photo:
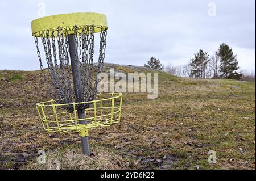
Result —
M 209 62 L 208 52 L 204 52 L 202 49 L 194 54 L 194 58 L 190 61 L 191 65 L 191 77 L 193 78 L 205 78 L 205 70 L 207 69 L 207 63 Z

